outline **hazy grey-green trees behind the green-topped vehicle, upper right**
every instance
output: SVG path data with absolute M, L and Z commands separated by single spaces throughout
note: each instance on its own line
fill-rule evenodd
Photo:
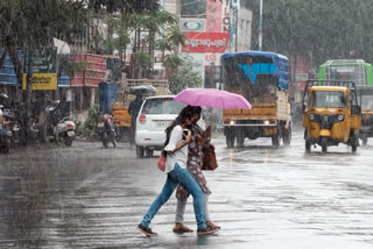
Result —
M 253 10 L 253 49 L 257 48 L 259 1 Z M 263 50 L 307 55 L 313 66 L 330 58 L 363 58 L 372 62 L 373 19 L 370 0 L 266 0 Z

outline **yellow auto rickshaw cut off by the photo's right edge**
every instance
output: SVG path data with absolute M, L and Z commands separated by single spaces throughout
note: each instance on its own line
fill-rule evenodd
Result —
M 359 139 L 363 146 L 367 145 L 368 138 L 373 137 L 373 87 L 357 87 L 357 99 L 361 106 L 361 130 Z

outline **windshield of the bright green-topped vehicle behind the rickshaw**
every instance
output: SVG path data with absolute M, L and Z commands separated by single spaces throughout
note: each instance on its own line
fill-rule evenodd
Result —
M 353 81 L 356 86 L 367 85 L 364 65 L 331 65 L 326 68 L 326 76 L 330 80 Z

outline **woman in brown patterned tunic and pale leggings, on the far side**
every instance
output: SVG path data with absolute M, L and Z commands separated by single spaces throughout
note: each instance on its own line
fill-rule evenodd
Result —
M 203 208 L 204 208 L 204 217 L 206 226 L 211 229 L 220 229 L 219 226 L 216 226 L 209 217 L 209 212 L 207 208 L 208 196 L 211 194 L 211 191 L 207 187 L 206 179 L 203 176 L 201 170 L 203 164 L 203 149 L 209 146 L 211 141 L 211 126 L 204 131 L 197 122 L 201 118 L 201 107 L 191 107 L 187 106 L 185 108 L 190 108 L 192 113 L 194 113 L 193 122 L 190 126 L 192 136 L 190 143 L 188 144 L 188 159 L 186 161 L 186 168 L 192 177 L 196 180 L 203 192 Z M 184 212 L 186 206 L 186 200 L 189 196 L 189 192 L 179 186 L 176 192 L 177 198 L 177 208 L 176 208 L 176 218 L 175 218 L 175 227 L 173 231 L 176 233 L 192 232 L 191 229 L 183 225 Z

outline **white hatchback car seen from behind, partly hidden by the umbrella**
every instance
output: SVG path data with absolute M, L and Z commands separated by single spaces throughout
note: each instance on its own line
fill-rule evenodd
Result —
M 165 129 L 177 117 L 185 104 L 173 102 L 173 95 L 148 97 L 142 103 L 136 118 L 136 156 L 153 156 L 166 141 Z

